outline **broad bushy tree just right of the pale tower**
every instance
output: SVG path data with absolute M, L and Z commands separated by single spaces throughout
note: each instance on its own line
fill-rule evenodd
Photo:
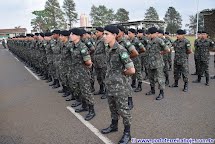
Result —
M 104 5 L 99 5 L 98 7 L 93 5 L 91 7 L 90 16 L 93 26 L 105 26 L 113 22 L 114 11 L 113 9 L 108 9 Z

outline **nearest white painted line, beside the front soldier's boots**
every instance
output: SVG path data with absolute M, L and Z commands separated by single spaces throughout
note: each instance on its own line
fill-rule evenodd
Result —
M 73 113 L 87 128 L 89 128 L 97 137 L 99 137 L 105 144 L 113 144 L 113 142 L 108 139 L 107 137 L 105 137 L 104 135 L 102 135 L 100 133 L 100 131 L 95 128 L 91 123 L 89 123 L 88 121 L 85 121 L 84 118 L 75 112 L 75 110 L 70 107 L 70 106 L 67 106 L 66 107 L 71 113 Z

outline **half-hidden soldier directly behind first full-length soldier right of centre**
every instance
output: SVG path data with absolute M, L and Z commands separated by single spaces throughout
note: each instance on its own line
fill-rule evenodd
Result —
M 168 40 L 166 40 L 164 38 L 164 31 L 163 30 L 161 30 L 161 29 L 158 30 L 158 37 L 164 41 L 164 43 L 166 44 L 166 46 L 169 49 L 171 49 L 172 45 Z M 163 61 L 164 61 L 163 71 L 164 71 L 164 76 L 165 76 L 165 79 L 166 79 L 165 80 L 165 85 L 166 86 L 169 85 L 169 72 L 168 72 L 168 70 L 169 70 L 169 68 L 168 68 L 169 61 L 168 60 L 169 60 L 169 53 L 163 54 Z

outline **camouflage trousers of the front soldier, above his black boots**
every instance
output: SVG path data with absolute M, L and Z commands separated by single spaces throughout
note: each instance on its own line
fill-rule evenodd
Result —
M 124 125 L 131 125 L 131 113 L 128 107 L 128 97 L 108 96 L 108 104 L 111 112 L 111 118 L 118 120 L 119 116 L 123 118 Z

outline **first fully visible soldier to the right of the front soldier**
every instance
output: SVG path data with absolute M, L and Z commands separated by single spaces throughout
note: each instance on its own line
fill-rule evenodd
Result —
M 149 71 L 149 81 L 151 90 L 146 93 L 146 95 L 155 94 L 155 82 L 159 84 L 160 93 L 156 97 L 156 100 L 161 100 L 164 98 L 165 89 L 165 78 L 164 78 L 164 62 L 163 54 L 169 52 L 169 48 L 166 46 L 164 41 L 157 36 L 157 28 L 151 27 L 148 29 L 150 33 L 150 40 L 146 47 L 146 53 L 148 56 L 148 71 Z

